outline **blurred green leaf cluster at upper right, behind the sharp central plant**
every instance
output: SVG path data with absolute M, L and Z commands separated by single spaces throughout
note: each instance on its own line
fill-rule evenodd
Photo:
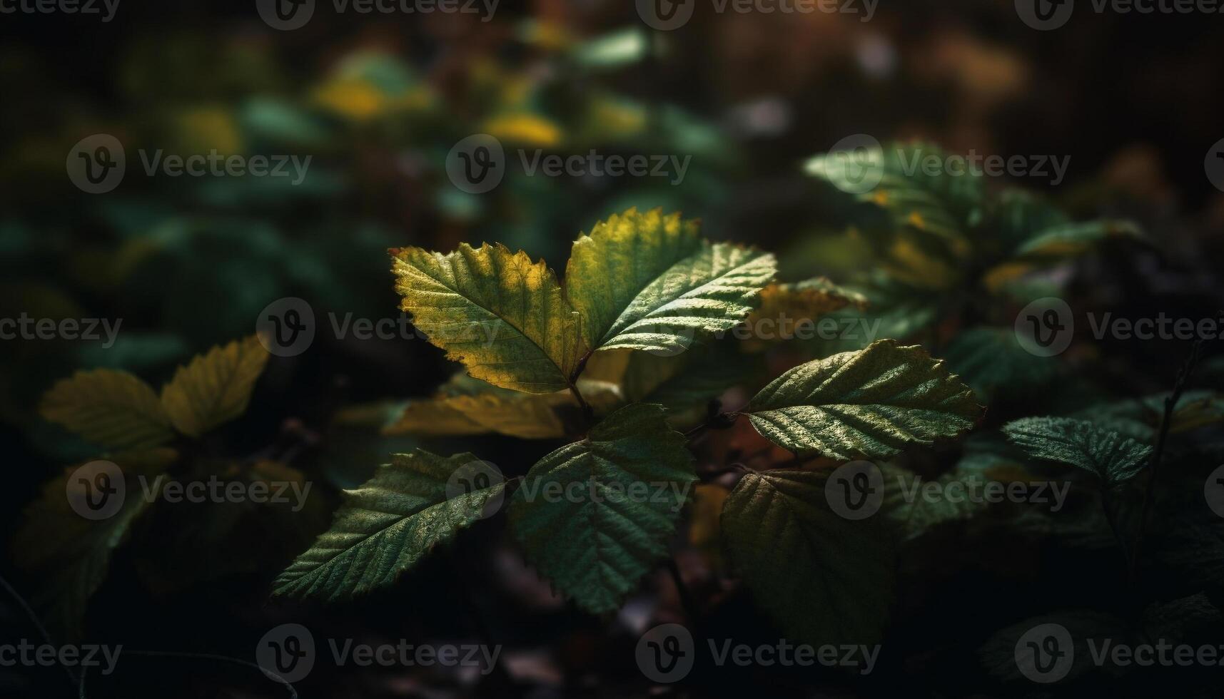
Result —
M 849 165 L 847 155 L 805 164 L 852 202 L 846 235 L 796 257 L 819 253 L 857 269 L 848 285 L 870 301 L 883 337 L 946 345 L 949 365 L 983 399 L 1032 392 L 1056 376 L 1058 365 L 1024 351 L 1012 332 L 1018 307 L 1061 294 L 1069 275 L 1054 271 L 1106 240 L 1143 240 L 1130 222 L 1075 222 L 1044 196 L 990 190 L 973 166 L 929 169 L 950 155 L 929 143 L 860 149 Z M 879 184 L 863 191 L 864 174 Z M 952 337 L 939 337 L 949 326 Z

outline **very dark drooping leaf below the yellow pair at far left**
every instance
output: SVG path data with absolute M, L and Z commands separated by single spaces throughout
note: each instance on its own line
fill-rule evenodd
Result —
M 70 492 L 80 493 L 84 487 L 76 480 L 76 468 L 47 484 L 42 496 L 26 508 L 13 536 L 13 559 L 40 583 L 33 602 L 49 612 L 56 629 L 73 638 L 81 635 L 89 597 L 106 578 L 111 553 L 151 504 L 144 485 L 135 476 L 149 479 L 155 495 L 157 476 L 175 459 L 177 453 L 168 448 L 109 457 L 126 476 L 122 502 L 110 517 L 87 519 L 72 509 Z

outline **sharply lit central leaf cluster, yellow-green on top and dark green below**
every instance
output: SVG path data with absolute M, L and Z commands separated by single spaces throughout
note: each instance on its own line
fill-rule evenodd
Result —
M 709 371 L 685 370 L 703 365 L 705 351 L 715 351 L 725 375 L 734 375 L 737 357 L 748 361 L 720 355 L 714 337 L 761 312 L 763 291 L 771 306 L 838 305 L 823 282 L 774 284 L 771 255 L 704 240 L 679 214 L 629 209 L 596 224 L 574 242 L 564 285 L 542 262 L 499 245 L 392 252 L 401 307 L 469 375 L 410 404 L 394 428 L 578 439 L 524 476 L 480 487 L 463 477 L 481 463 L 476 455 L 393 457 L 285 569 L 279 595 L 344 599 L 390 584 L 506 497 L 526 558 L 580 607 L 613 611 L 667 556 L 689 486 L 703 475 L 688 448 L 703 428 L 745 416 L 799 457 L 886 458 L 957 437 L 983 411 L 941 362 L 886 340 L 793 367 L 741 410 L 714 410 L 688 436 L 678 432 L 654 397 L 666 393 L 683 408 L 716 398 L 722 388 Z M 592 371 L 619 373 L 606 381 Z M 656 388 L 644 391 L 647 383 Z M 605 398 L 589 402 L 592 388 Z M 563 419 L 557 409 L 567 399 Z M 428 424 L 426 415 L 442 417 Z M 529 425 L 534 419 L 539 425 Z M 804 469 L 743 475 L 722 507 L 723 541 L 761 607 L 797 638 L 875 638 L 891 595 L 886 544 L 874 539 L 878 529 L 827 510 L 826 477 Z M 448 488 L 457 480 L 469 485 Z M 590 497 L 537 497 L 575 484 Z M 625 497 L 635 484 L 668 495 Z

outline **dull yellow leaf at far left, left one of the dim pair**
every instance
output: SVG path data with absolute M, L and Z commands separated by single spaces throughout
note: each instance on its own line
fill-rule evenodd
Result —
M 43 395 L 39 413 L 99 447 L 138 449 L 174 438 L 157 393 L 125 371 L 78 371 Z

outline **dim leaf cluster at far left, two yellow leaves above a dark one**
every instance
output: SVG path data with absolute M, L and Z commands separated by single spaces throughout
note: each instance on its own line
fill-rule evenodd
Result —
M 78 464 L 48 482 L 27 509 L 15 551 L 18 563 L 43 581 L 37 602 L 54 612 L 56 628 L 78 633 L 113 551 L 140 518 L 157 517 L 148 510 L 155 509 L 170 480 L 291 475 L 267 463 L 200 458 L 192 448 L 207 432 L 242 415 L 267 361 L 268 353 L 250 337 L 180 366 L 160 395 L 138 377 L 109 368 L 77 372 L 45 393 L 42 415 L 102 449 L 98 458 L 119 466 L 126 493 L 111 517 L 92 520 L 75 513 L 70 501 L 83 498 L 94 485 L 72 477 Z

